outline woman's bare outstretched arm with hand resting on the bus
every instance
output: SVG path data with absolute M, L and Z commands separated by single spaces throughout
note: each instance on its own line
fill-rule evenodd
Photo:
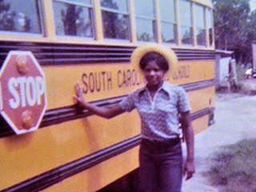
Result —
M 122 110 L 121 106 L 112 106 L 111 108 L 105 108 L 101 106 L 94 106 L 84 100 L 82 97 L 82 87 L 76 83 L 74 85 L 74 90 L 75 90 L 75 96 L 74 101 L 78 102 L 79 106 L 82 106 L 82 108 L 89 110 L 93 112 L 94 114 L 97 114 L 98 116 L 101 116 L 103 118 L 114 118 L 118 114 L 122 114 L 125 112 L 125 110 Z

